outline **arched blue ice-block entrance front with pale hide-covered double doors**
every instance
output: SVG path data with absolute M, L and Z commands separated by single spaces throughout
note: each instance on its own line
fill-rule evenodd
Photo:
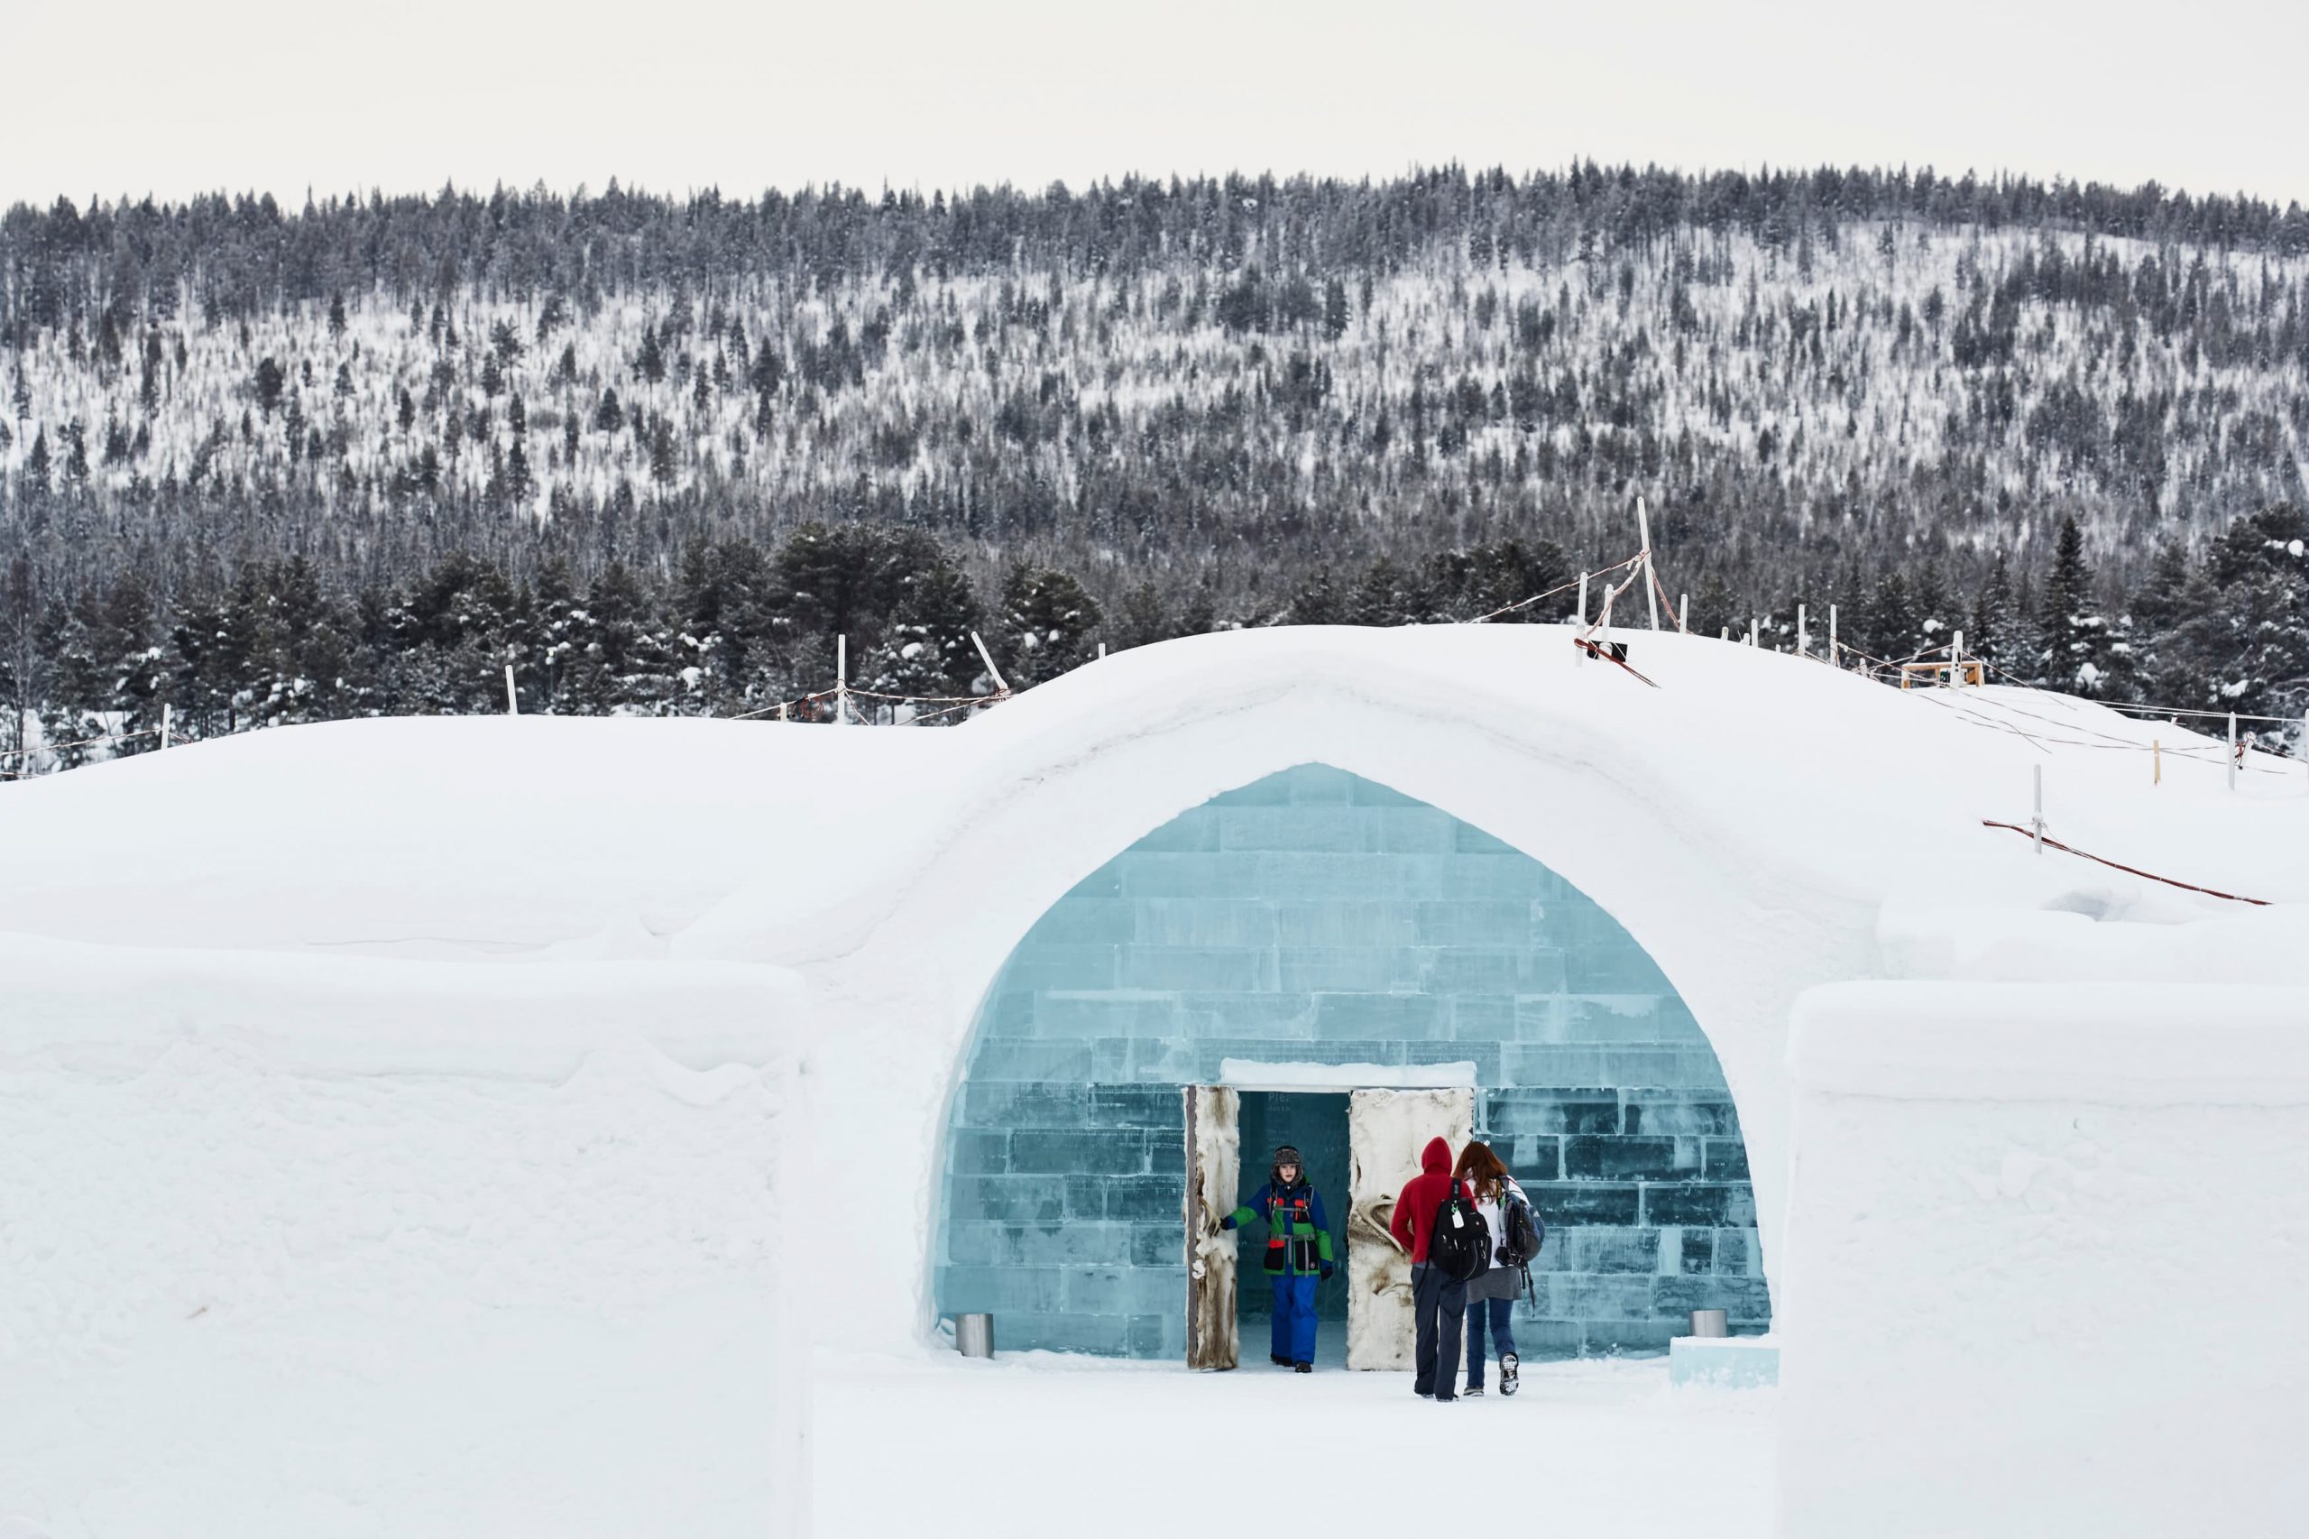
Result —
M 1692 1308 L 1769 1322 L 1732 1093 L 1653 959 L 1531 855 L 1325 765 L 1157 827 L 1016 945 L 951 1093 L 935 1310 L 995 1313 L 1004 1350 L 1185 1359 L 1194 1299 L 1210 1363 L 1235 1315 L 1189 1255 L 1189 1172 L 1196 1202 L 1256 1185 L 1242 1139 L 1321 1100 L 1355 1102 L 1325 1202 L 1362 1366 L 1397 1361 L 1378 1204 L 1439 1132 L 1487 1137 L 1549 1222 L 1526 1356 L 1662 1350 Z

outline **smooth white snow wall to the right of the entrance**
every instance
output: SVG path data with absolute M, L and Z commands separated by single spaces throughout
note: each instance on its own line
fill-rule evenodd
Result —
M 2300 1532 L 2304 1021 L 2300 987 L 1806 994 L 1783 1534 Z

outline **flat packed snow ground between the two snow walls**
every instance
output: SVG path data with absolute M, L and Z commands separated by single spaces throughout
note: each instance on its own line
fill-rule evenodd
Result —
M 995 1343 L 1000 1347 L 1000 1343 Z M 1771 1532 L 1771 1389 L 1669 1389 L 1667 1359 L 1533 1363 L 1512 1400 L 1429 1405 L 1408 1373 L 1187 1373 L 1046 1352 L 820 1359 L 820 1539 L 1178 1539 L 1215 1511 L 1279 1534 L 1489 1527 L 1626 1539 Z M 1270 1495 L 1279 1467 L 1307 1495 Z

